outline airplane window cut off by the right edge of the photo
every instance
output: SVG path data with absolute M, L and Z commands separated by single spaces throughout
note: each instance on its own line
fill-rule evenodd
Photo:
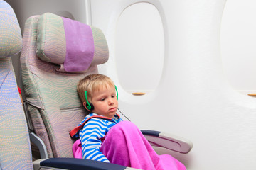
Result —
M 223 70 L 235 90 L 256 93 L 256 11 L 254 0 L 226 1 L 220 30 Z

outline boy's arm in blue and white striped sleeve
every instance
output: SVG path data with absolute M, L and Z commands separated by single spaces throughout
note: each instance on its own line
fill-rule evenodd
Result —
M 101 138 L 105 136 L 107 125 L 99 119 L 92 118 L 84 128 L 80 140 L 82 143 L 82 158 L 97 160 L 101 162 L 110 162 L 102 152 L 100 152 Z

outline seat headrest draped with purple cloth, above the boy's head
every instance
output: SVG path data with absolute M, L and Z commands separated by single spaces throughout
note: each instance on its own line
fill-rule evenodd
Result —
M 109 51 L 102 30 L 44 13 L 38 18 L 36 54 L 59 64 L 60 72 L 86 72 L 90 65 L 107 62 Z

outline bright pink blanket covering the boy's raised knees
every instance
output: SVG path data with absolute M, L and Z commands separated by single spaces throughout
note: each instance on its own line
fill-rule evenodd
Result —
M 101 152 L 113 164 L 144 170 L 184 170 L 186 167 L 169 154 L 158 155 L 136 125 L 123 121 L 114 125 L 102 142 Z M 75 158 L 82 158 L 80 140 L 73 145 Z

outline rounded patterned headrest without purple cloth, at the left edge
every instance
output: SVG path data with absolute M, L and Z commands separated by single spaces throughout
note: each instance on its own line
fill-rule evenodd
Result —
M 21 51 L 21 28 L 13 8 L 0 1 L 0 58 L 10 57 Z

